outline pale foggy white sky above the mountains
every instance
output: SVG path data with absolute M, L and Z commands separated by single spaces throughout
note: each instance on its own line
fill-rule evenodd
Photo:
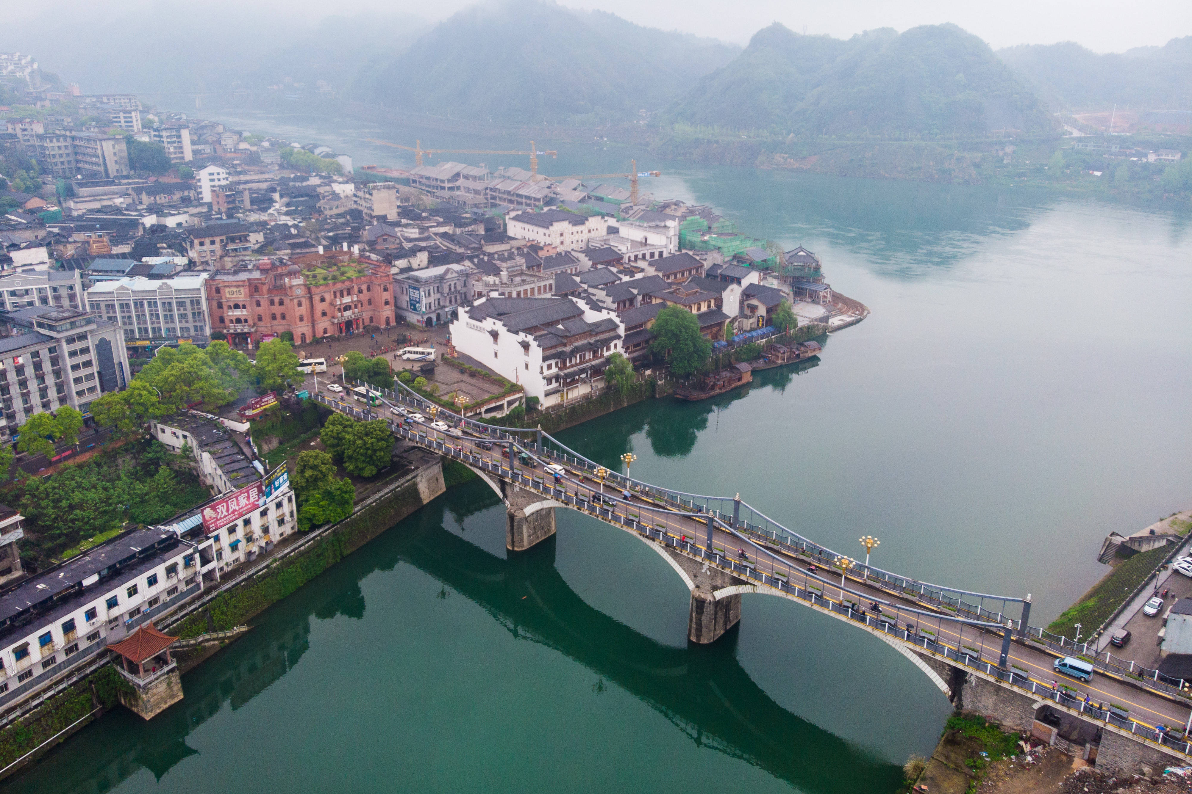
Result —
M 54 14 L 111 19 L 134 12 L 138 6 L 173 5 L 174 0 L 60 0 L 51 4 Z M 187 4 L 190 5 L 190 4 Z M 290 24 L 304 19 L 311 24 L 339 14 L 403 13 L 437 21 L 474 5 L 474 0 L 205 0 L 205 11 L 230 13 L 229 24 L 246 7 L 277 12 Z M 1002 0 L 1002 2 L 956 2 L 955 0 L 836 0 L 834 2 L 790 2 L 789 0 L 563 0 L 573 8 L 609 11 L 629 21 L 663 30 L 679 30 L 745 44 L 759 29 L 780 21 L 793 31 L 827 33 L 848 38 L 874 27 L 904 31 L 915 25 L 955 23 L 994 49 L 1013 44 L 1054 44 L 1073 40 L 1095 52 L 1122 52 L 1134 46 L 1162 45 L 1192 35 L 1192 2 L 1188 0 Z M 48 11 L 42 4 L 0 0 L 0 19 L 6 25 L 32 21 Z M 41 21 L 41 20 L 38 20 Z M 11 42 L 17 30 L 4 36 Z M 533 31 L 527 31 L 533 35 Z M 185 36 L 184 36 L 185 38 Z

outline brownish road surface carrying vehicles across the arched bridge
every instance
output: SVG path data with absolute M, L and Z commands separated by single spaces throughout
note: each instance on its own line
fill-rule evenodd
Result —
M 342 407 L 355 411 L 365 409 L 360 402 L 354 402 L 344 394 L 324 392 L 322 396 Z M 406 409 L 403 407 L 401 409 L 414 413 L 412 408 Z M 371 414 L 374 418 L 386 418 L 390 421 L 396 421 L 398 426 L 406 426 L 406 423 L 409 423 L 405 417 L 396 415 L 399 411 L 398 408 L 390 407 L 389 415 L 385 415 L 381 411 L 384 408 L 372 409 Z M 451 414 L 446 414 L 446 412 L 441 415 L 446 415 L 448 419 L 457 419 Z M 489 463 L 501 465 L 505 470 L 509 469 L 510 462 L 507 456 L 502 455 L 504 445 L 501 442 L 489 442 L 471 432 L 466 432 L 462 437 L 454 437 L 429 427 L 422 427 L 421 431 L 441 443 L 479 456 Z M 483 449 L 479 444 L 490 444 L 492 449 Z M 526 473 L 526 467 L 520 463 L 515 463 L 514 465 L 517 471 Z M 533 473 L 535 476 L 544 471 L 542 463 L 538 463 L 533 468 L 535 469 Z M 883 618 L 895 623 L 899 627 L 911 629 L 919 637 L 933 634 L 942 644 L 956 650 L 963 648 L 974 658 L 979 657 L 981 661 L 994 665 L 999 663 L 1001 638 L 998 633 L 974 625 L 967 625 L 966 621 L 946 617 L 946 613 L 932 605 L 881 589 L 856 576 L 848 576 L 846 583 L 842 586 L 840 574 L 832 573 L 839 569 L 824 569 L 809 565 L 806 559 L 769 544 L 764 538 L 762 543 L 751 543 L 720 527 L 715 527 L 709 540 L 706 519 L 678 512 L 670 506 L 642 498 L 638 493 L 607 490 L 602 482 L 592 477 L 591 473 L 581 471 L 566 465 L 564 469 L 564 473 L 554 477 L 554 487 L 563 488 L 566 494 L 576 495 L 588 501 L 591 507 L 585 512 L 594 513 L 600 507 L 602 509 L 610 509 L 620 517 L 635 518 L 639 524 L 652 524 L 657 529 L 665 530 L 668 534 L 681 544 L 689 543 L 693 549 L 708 549 L 710 546 L 712 550 L 721 556 L 732 557 L 740 562 L 749 561 L 758 571 L 771 576 L 783 576 L 789 583 L 797 584 L 805 589 L 818 589 L 827 600 L 838 604 L 852 602 L 856 605 L 856 608 L 869 611 L 871 615 L 881 613 Z M 550 474 L 542 476 L 547 481 L 552 479 Z M 759 549 L 764 549 L 765 551 L 759 551 Z M 880 609 L 874 609 L 873 604 L 875 602 L 880 606 Z M 924 612 L 933 614 L 923 614 Z M 1070 689 L 1075 689 L 1080 698 L 1087 695 L 1094 704 L 1113 704 L 1124 707 L 1129 709 L 1131 719 L 1147 727 L 1154 727 L 1157 724 L 1182 727 L 1192 719 L 1192 709 L 1187 706 L 1177 704 L 1160 694 L 1128 684 L 1104 673 L 1095 673 L 1088 683 L 1057 674 L 1051 667 L 1054 661 L 1054 656 L 1033 648 L 1018 643 L 1011 645 L 1010 664 L 1018 667 L 1020 670 L 1026 670 L 1030 679 L 1041 687 L 1051 689 L 1053 682 L 1055 682 L 1058 686 L 1067 686 Z

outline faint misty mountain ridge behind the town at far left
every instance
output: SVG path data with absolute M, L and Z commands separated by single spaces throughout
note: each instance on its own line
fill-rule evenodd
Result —
M 318 19 L 252 4 L 235 14 L 178 0 L 55 5 L 0 26 L 0 50 L 31 52 L 44 71 L 87 94 L 136 93 L 185 106 L 186 94 L 211 93 L 209 101 L 218 102 L 240 88 L 283 83 L 313 93 L 319 80 L 343 95 L 361 69 L 428 27 L 409 15 Z

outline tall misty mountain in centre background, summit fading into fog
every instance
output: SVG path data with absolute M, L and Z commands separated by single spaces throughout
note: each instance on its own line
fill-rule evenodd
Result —
M 356 95 L 415 113 L 514 124 L 625 121 L 682 95 L 740 48 L 603 12 L 473 6 L 361 75 Z

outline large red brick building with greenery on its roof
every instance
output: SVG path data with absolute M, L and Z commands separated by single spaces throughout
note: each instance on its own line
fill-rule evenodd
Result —
M 285 331 L 302 344 L 316 337 L 393 325 L 393 281 L 387 264 L 360 260 L 299 268 L 262 260 L 252 269 L 217 270 L 206 280 L 211 330 L 232 346 L 260 346 Z

